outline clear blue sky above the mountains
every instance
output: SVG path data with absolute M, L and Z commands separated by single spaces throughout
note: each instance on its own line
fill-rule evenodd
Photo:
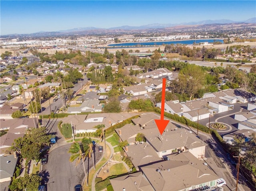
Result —
M 255 0 L 0 0 L 0 34 L 219 19 L 243 21 L 255 16 Z

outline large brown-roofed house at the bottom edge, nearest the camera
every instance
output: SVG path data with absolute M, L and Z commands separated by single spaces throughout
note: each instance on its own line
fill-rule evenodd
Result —
M 190 152 L 172 155 L 169 159 L 142 165 L 139 172 L 110 179 L 111 185 L 114 190 L 126 191 L 190 191 L 217 185 L 219 177 Z

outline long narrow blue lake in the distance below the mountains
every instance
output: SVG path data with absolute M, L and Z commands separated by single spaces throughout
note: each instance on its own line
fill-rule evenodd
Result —
M 158 42 L 131 42 L 131 43 L 118 43 L 118 44 L 109 44 L 108 46 L 150 46 L 150 45 L 163 45 L 163 44 L 194 44 L 202 42 L 221 42 L 222 39 L 196 39 L 196 40 L 178 40 L 178 41 L 158 41 Z

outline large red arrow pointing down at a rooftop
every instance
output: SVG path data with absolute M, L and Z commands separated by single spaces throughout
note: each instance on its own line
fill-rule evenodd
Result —
M 163 78 L 162 102 L 161 102 L 161 118 L 160 118 L 160 120 L 159 119 L 155 119 L 156 125 L 157 125 L 158 130 L 159 130 L 161 135 L 163 134 L 166 126 L 168 125 L 168 122 L 170 121 L 170 120 L 164 120 L 165 82 L 166 82 L 166 79 Z

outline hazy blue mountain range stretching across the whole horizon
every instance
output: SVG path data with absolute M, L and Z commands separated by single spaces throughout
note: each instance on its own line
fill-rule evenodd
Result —
M 139 32 L 140 30 L 148 30 L 155 31 L 155 29 L 184 29 L 187 30 L 191 27 L 195 28 L 210 28 L 212 25 L 219 26 L 220 24 L 256 24 L 256 17 L 250 18 L 245 21 L 232 21 L 232 20 L 203 20 L 199 22 L 188 22 L 188 23 L 180 23 L 180 24 L 148 24 L 142 26 L 119 26 L 113 28 L 95 28 L 95 27 L 85 27 L 85 28 L 73 28 L 68 30 L 60 30 L 57 32 L 44 32 L 40 31 L 37 33 L 30 34 L 9 34 L 9 35 L 1 35 L 2 37 L 18 37 L 18 36 L 30 36 L 30 37 L 46 37 L 46 36 L 61 36 L 61 35 L 82 35 L 82 34 L 92 34 L 92 33 L 124 33 L 124 32 Z M 209 26 L 210 25 L 210 26 Z

